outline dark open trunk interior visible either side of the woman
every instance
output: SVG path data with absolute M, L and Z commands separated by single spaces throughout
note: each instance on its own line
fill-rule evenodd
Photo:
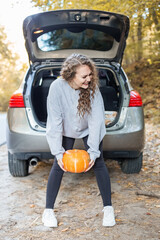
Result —
M 117 122 L 120 109 L 119 82 L 111 69 L 98 68 L 100 91 L 103 97 L 106 116 L 106 127 Z M 47 96 L 51 83 L 60 76 L 60 68 L 40 70 L 33 81 L 31 90 L 32 110 L 35 118 L 41 126 L 46 125 L 47 120 Z

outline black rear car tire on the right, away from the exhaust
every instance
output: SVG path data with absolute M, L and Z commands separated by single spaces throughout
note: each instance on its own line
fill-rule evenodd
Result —
M 139 173 L 142 168 L 142 162 L 143 153 L 141 153 L 137 158 L 123 159 L 120 161 L 121 170 L 127 174 Z

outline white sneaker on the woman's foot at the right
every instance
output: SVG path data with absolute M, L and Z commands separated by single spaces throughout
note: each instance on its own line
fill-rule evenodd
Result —
M 103 209 L 104 216 L 103 216 L 103 226 L 104 227 L 113 227 L 116 224 L 115 217 L 114 217 L 114 209 L 112 206 L 106 206 Z

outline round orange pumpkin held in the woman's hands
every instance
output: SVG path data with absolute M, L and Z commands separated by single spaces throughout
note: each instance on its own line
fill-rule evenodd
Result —
M 68 172 L 81 173 L 89 167 L 90 157 L 85 150 L 72 149 L 63 154 L 62 161 Z

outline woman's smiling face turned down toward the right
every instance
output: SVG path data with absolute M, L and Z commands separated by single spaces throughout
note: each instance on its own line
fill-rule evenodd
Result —
M 70 81 L 70 86 L 74 89 L 87 89 L 92 81 L 93 73 L 87 65 L 77 67 L 75 77 Z

